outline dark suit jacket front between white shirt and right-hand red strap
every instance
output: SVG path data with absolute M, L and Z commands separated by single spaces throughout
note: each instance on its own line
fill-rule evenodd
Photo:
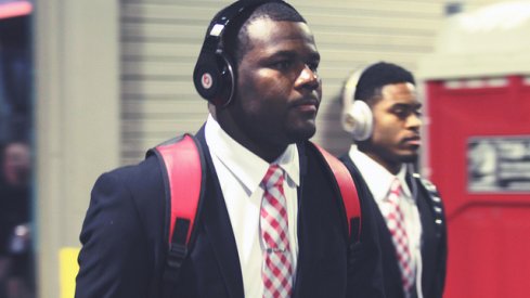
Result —
M 348 284 L 347 225 L 338 187 L 316 148 L 298 146 L 298 268 L 293 296 L 344 297 Z

